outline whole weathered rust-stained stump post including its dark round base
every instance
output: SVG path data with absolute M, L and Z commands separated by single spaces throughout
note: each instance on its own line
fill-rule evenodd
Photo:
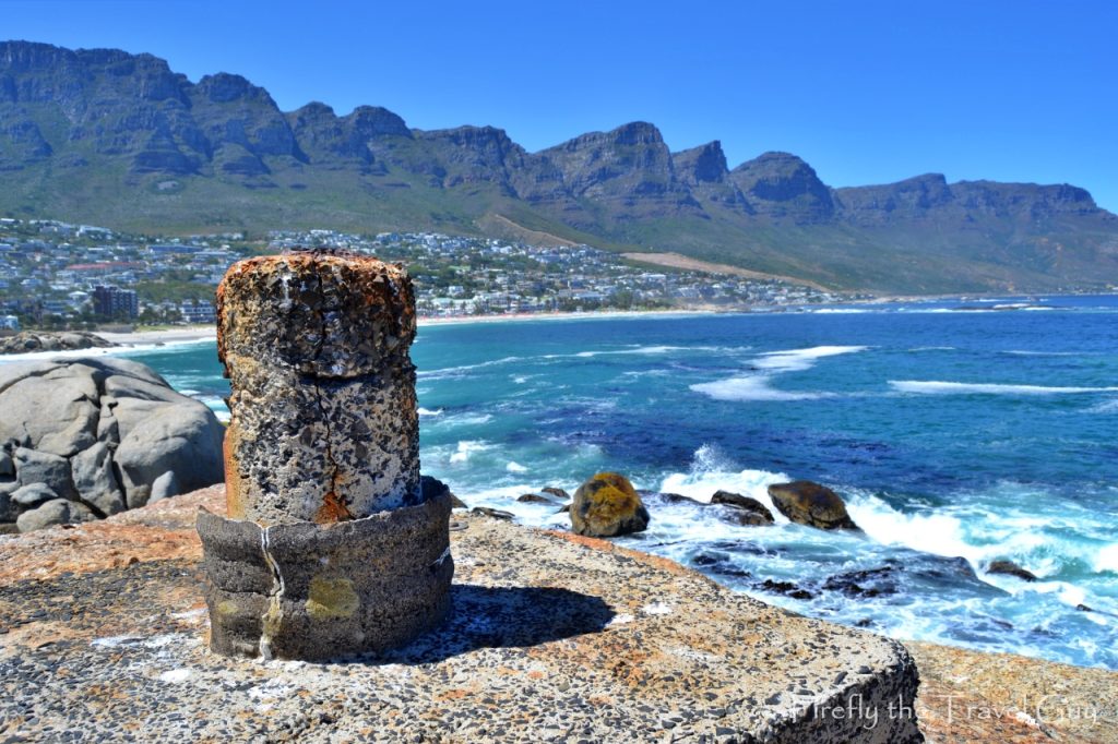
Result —
M 449 494 L 419 475 L 402 268 L 300 251 L 218 287 L 228 517 L 200 514 L 211 648 L 326 659 L 399 646 L 449 604 Z

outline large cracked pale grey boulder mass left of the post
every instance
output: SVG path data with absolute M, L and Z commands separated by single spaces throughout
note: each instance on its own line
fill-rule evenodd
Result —
M 0 523 L 23 532 L 143 506 L 160 478 L 155 496 L 222 477 L 220 422 L 138 362 L 6 364 L 0 411 Z

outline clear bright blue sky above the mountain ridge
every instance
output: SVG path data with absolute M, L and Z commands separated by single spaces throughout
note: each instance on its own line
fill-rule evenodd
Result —
M 0 38 L 239 73 L 290 111 L 492 124 L 529 150 L 650 121 L 831 185 L 1074 183 L 1118 211 L 1118 2 L 0 0 Z

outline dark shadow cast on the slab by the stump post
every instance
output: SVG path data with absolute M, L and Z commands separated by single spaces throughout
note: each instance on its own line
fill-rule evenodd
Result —
M 600 598 L 553 586 L 453 584 L 451 601 L 438 629 L 376 662 L 434 664 L 482 648 L 538 646 L 598 632 L 614 619 Z

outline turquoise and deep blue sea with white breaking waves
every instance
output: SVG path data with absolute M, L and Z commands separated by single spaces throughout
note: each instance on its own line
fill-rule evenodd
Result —
M 700 500 L 818 480 L 864 537 L 653 497 L 620 542 L 805 614 L 1118 668 L 1118 298 L 1018 302 L 423 327 L 423 468 L 537 525 L 566 517 L 517 496 L 604 469 Z M 212 343 L 129 355 L 222 409 Z

